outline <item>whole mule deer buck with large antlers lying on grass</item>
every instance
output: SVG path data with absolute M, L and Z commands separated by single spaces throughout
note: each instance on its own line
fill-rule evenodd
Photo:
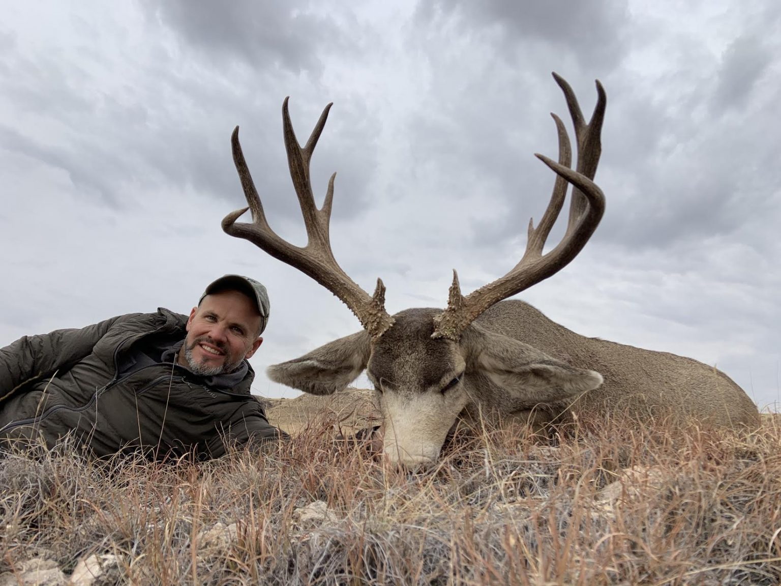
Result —
M 406 309 L 394 316 L 384 307 L 378 279 L 369 295 L 344 273 L 330 247 L 329 223 L 334 173 L 317 209 L 309 178 L 312 158 L 331 104 L 302 148 L 282 108 L 284 143 L 291 177 L 304 216 L 308 243 L 291 245 L 269 227 L 241 151 L 238 127 L 232 146 L 248 208 L 230 213 L 223 230 L 254 242 L 283 263 L 307 274 L 344 302 L 363 330 L 285 363 L 269 366 L 273 380 L 314 395 L 344 390 L 363 371 L 376 388 L 383 416 L 383 451 L 392 462 L 431 463 L 461 417 L 500 413 L 541 424 L 577 413 L 645 417 L 672 416 L 715 427 L 752 427 L 758 410 L 725 374 L 693 359 L 585 338 L 548 320 L 525 302 L 508 297 L 547 279 L 578 255 L 604 213 L 604 195 L 594 184 L 601 154 L 605 94 L 597 81 L 597 104 L 587 123 L 569 84 L 554 73 L 572 117 L 576 170 L 562 120 L 558 163 L 537 155 L 557 173 L 551 201 L 535 227 L 530 222 L 526 252 L 504 277 L 463 296 L 453 274 L 448 307 Z M 543 254 L 551 227 L 572 184 L 569 223 L 562 241 Z M 252 223 L 237 223 L 251 210 Z

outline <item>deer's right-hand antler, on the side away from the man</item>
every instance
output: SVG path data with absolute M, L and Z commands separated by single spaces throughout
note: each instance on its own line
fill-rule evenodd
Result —
M 604 195 L 600 188 L 592 182 L 601 155 L 600 133 L 604 120 L 604 106 L 607 98 L 604 88 L 597 81 L 597 105 L 589 123 L 583 120 L 575 93 L 569 84 L 556 73 L 553 74 L 556 83 L 562 88 L 572 116 L 577 141 L 576 171 L 569 168 L 572 151 L 569 146 L 569 136 L 562 120 L 551 114 L 558 129 L 558 163 L 554 163 L 543 155 L 536 155 L 547 166 L 558 174 L 551 195 L 551 201 L 537 228 L 533 220 L 529 222 L 529 238 L 526 242 L 526 252 L 520 262 L 494 282 L 484 285 L 466 297 L 461 294 L 458 284 L 458 273 L 453 271 L 453 284 L 450 287 L 448 309 L 434 318 L 436 327 L 432 338 L 450 338 L 458 340 L 465 327 L 494 303 L 515 295 L 541 280 L 562 270 L 586 245 L 591 234 L 604 214 Z M 561 212 L 568 183 L 572 189 L 572 200 L 569 207 L 569 223 L 562 241 L 550 252 L 543 255 L 542 250 L 551 227 Z

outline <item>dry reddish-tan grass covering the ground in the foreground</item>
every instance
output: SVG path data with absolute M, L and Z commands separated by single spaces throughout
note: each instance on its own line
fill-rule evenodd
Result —
M 742 439 L 465 430 L 423 473 L 335 436 L 205 464 L 7 456 L 0 573 L 111 553 L 96 584 L 781 583 L 778 420 Z

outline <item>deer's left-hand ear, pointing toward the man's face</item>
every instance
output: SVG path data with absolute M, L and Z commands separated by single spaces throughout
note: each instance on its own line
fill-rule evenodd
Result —
M 358 377 L 369 362 L 369 334 L 360 331 L 320 346 L 300 358 L 266 369 L 277 383 L 312 395 L 331 395 Z

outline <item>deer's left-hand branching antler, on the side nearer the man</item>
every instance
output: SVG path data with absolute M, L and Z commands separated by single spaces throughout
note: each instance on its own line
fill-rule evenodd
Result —
M 293 131 L 290 114 L 287 111 L 287 99 L 285 98 L 282 105 L 285 149 L 287 150 L 287 163 L 290 166 L 293 187 L 298 195 L 298 203 L 301 205 L 301 213 L 304 216 L 308 237 L 307 245 L 304 248 L 291 245 L 269 227 L 266 214 L 263 212 L 263 204 L 244 160 L 244 153 L 241 152 L 239 127 L 234 130 L 230 142 L 233 147 L 236 170 L 241 179 L 241 187 L 244 188 L 244 196 L 247 198 L 249 206 L 225 216 L 223 230 L 226 234 L 245 238 L 255 243 L 274 258 L 280 259 L 283 263 L 294 266 L 302 273 L 312 277 L 331 291 L 333 295 L 340 298 L 351 309 L 352 313 L 355 313 L 373 339 L 379 338 L 393 324 L 393 318 L 385 311 L 383 281 L 377 279 L 374 295 L 369 295 L 358 287 L 347 273 L 344 273 L 336 259 L 333 258 L 331 251 L 329 223 L 331 203 L 333 202 L 333 180 L 336 173 L 333 173 L 328 181 L 328 191 L 326 191 L 326 199 L 322 209 L 317 209 L 314 195 L 312 195 L 309 161 L 312 159 L 312 152 L 315 150 L 320 133 L 323 132 L 323 127 L 326 125 L 331 104 L 326 105 L 326 108 L 323 109 L 323 114 L 320 115 L 309 140 L 301 148 Z M 248 209 L 252 213 L 252 223 L 237 223 L 236 220 L 239 216 Z

